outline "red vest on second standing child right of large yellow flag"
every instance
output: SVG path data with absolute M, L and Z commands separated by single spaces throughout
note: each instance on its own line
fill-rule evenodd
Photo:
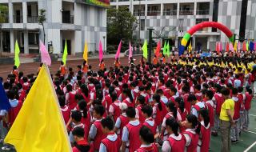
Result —
M 106 134 L 102 132 L 102 124 L 101 121 L 95 121 L 94 125 L 97 128 L 97 134 L 94 138 L 94 150 L 99 150 L 99 145 L 103 138 L 106 138 Z

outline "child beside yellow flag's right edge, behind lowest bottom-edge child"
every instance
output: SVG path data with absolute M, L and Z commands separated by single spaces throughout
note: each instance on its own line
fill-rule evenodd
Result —
M 82 120 L 81 112 L 78 111 L 78 110 L 72 111 L 72 114 L 71 114 L 71 132 L 76 127 L 84 128 L 84 125 L 82 124 L 81 120 Z M 74 136 L 71 133 L 70 133 L 70 142 L 71 142 L 71 144 L 74 144 Z

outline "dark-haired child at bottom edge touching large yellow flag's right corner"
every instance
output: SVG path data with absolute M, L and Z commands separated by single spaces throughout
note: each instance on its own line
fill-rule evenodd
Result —
M 72 148 L 72 152 L 89 152 L 90 145 L 84 138 L 84 130 L 82 127 L 76 127 L 72 131 L 75 144 Z

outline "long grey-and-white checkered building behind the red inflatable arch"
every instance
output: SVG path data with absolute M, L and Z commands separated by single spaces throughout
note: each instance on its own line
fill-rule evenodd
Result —
M 171 39 L 178 46 L 182 36 L 192 26 L 205 21 L 221 22 L 236 39 L 256 38 L 256 1 L 254 0 L 111 0 L 114 8 L 126 7 L 138 19 L 136 36 L 147 39 L 148 28 L 153 37 Z M 217 41 L 229 39 L 220 30 L 204 28 L 192 37 L 193 48 L 214 50 Z

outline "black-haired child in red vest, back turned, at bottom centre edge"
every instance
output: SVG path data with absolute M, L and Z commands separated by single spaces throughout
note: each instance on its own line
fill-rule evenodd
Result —
M 135 118 L 136 111 L 133 107 L 126 110 L 126 115 L 130 122 L 122 129 L 122 147 L 121 152 L 129 150 L 134 152 L 141 146 L 141 142 L 136 140 L 139 137 L 139 130 L 142 124 Z

